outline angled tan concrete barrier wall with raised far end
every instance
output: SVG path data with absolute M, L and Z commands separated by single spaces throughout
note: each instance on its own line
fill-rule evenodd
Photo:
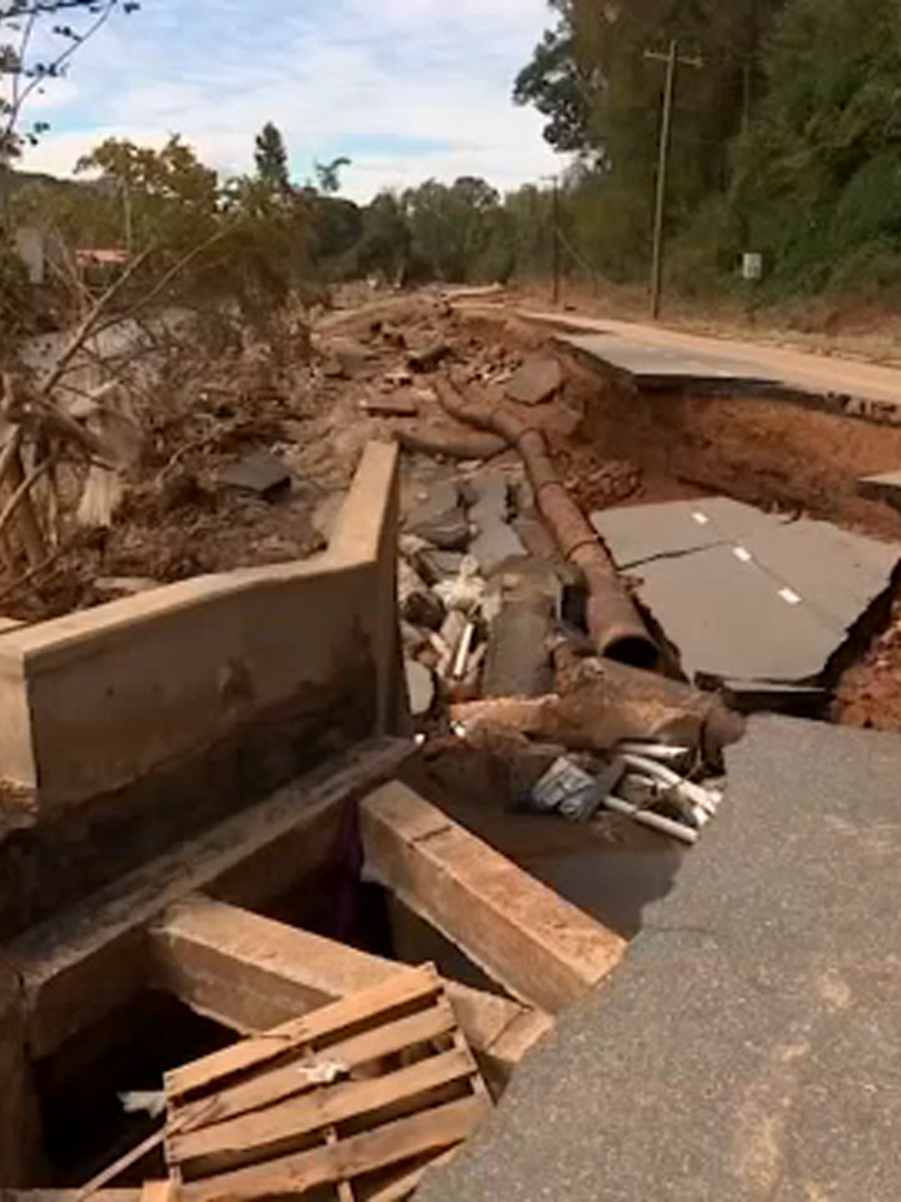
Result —
M 326 698 L 354 733 L 395 726 L 396 471 L 395 447 L 366 448 L 322 555 L 5 633 L 0 778 L 52 815 L 267 724 L 297 737 Z

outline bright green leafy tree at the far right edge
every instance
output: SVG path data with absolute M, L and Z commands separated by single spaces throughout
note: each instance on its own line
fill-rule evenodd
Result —
M 782 290 L 901 288 L 897 0 L 793 0 L 730 201 Z

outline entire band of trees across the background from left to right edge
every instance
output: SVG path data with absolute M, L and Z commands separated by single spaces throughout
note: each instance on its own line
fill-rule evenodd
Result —
M 738 285 L 742 252 L 756 251 L 764 297 L 901 287 L 901 0 L 549 0 L 550 28 L 513 99 L 543 114 L 561 151 L 556 196 L 547 184 L 501 195 L 463 177 L 356 204 L 340 195 L 347 159 L 315 163 L 311 179 L 294 183 L 274 123 L 256 138 L 253 171 L 238 178 L 220 177 L 179 137 L 161 150 L 107 141 L 79 163 L 76 184 L 13 171 L 43 132 L 23 127 L 23 95 L 84 40 L 58 24 L 56 56 L 35 61 L 29 23 L 54 10 L 96 22 L 136 8 L 14 0 L 0 17 L 0 78 L 13 82 L 0 102 L 7 236 L 14 222 L 36 222 L 70 246 L 148 252 L 162 272 L 209 243 L 193 263 L 198 282 L 263 307 L 303 281 L 505 282 L 547 275 L 555 258 L 568 273 L 642 279 L 660 53 L 676 41 L 699 66 L 682 69 L 675 89 L 670 280 L 721 291 Z M 7 46 L 5 26 L 16 30 Z M 0 238 L 0 279 L 4 254 Z

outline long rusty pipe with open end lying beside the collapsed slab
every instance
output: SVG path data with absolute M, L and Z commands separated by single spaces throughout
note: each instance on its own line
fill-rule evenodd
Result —
M 661 667 L 661 649 L 595 530 L 557 476 L 542 432 L 509 411 L 489 412 L 470 404 L 449 380 L 437 380 L 435 387 L 443 409 L 452 417 L 476 429 L 500 434 L 519 451 L 538 511 L 560 553 L 580 567 L 585 577 L 589 632 L 598 654 L 632 667 Z

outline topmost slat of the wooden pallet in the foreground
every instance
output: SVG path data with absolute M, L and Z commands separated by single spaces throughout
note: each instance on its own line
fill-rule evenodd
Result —
M 294 1048 L 338 1043 L 342 1035 L 350 1035 L 363 1022 L 371 1022 L 376 1016 L 384 1016 L 384 1022 L 388 1022 L 392 1012 L 414 1004 L 426 1006 L 441 993 L 441 980 L 431 965 L 398 974 L 374 989 L 344 998 L 304 1018 L 292 1019 L 255 1039 L 174 1069 L 166 1073 L 166 1091 L 171 1099 L 178 1099 L 198 1090 L 215 1089 L 229 1077 L 261 1069 Z

